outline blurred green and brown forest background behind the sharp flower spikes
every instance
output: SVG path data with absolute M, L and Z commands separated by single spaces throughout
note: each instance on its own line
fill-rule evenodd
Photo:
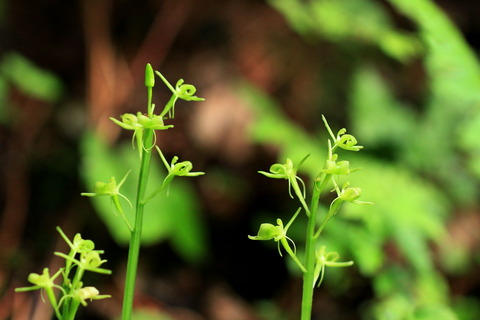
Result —
M 107 122 L 145 103 L 146 62 L 200 85 L 206 102 L 179 105 L 178 133 L 158 143 L 206 175 L 147 207 L 139 319 L 296 319 L 298 274 L 247 235 L 296 205 L 258 170 L 324 161 L 321 114 L 365 146 L 349 180 L 375 205 L 345 206 L 325 231 L 355 265 L 328 271 L 314 318 L 480 318 L 480 66 L 447 15 L 465 3 L 46 3 L 0 2 L 0 318 L 48 319 L 13 288 L 55 263 L 57 225 L 94 239 L 114 271 L 101 284 L 113 298 L 85 318 L 119 313 L 125 228 L 108 199 L 79 194 L 131 163 Z

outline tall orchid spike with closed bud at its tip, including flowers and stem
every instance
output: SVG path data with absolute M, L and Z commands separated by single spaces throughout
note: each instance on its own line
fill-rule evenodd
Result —
M 172 93 L 171 98 L 165 104 L 163 110 L 155 114 L 155 104 L 152 103 L 152 92 L 155 86 L 155 75 L 157 75 L 167 88 Z M 116 183 L 115 177 L 110 178 L 108 182 L 97 182 L 94 192 L 82 193 L 84 196 L 96 197 L 107 196 L 111 199 L 115 207 L 115 212 L 119 213 L 127 228 L 130 231 L 130 244 L 127 261 L 127 271 L 125 276 L 125 291 L 122 307 L 122 319 L 130 320 L 133 313 L 133 300 L 135 291 L 136 272 L 139 260 L 142 226 L 143 226 L 143 212 L 145 205 L 158 196 L 162 190 L 169 191 L 169 186 L 175 177 L 195 177 L 203 175 L 203 172 L 193 172 L 193 165 L 190 161 L 178 161 L 175 156 L 170 161 L 167 161 L 160 148 L 156 145 L 156 135 L 158 131 L 164 131 L 173 128 L 172 124 L 166 124 L 166 120 L 173 119 L 175 116 L 175 103 L 178 100 L 184 101 L 203 101 L 203 98 L 195 95 L 196 88 L 191 84 L 184 83 L 183 79 L 176 82 L 172 86 L 170 82 L 158 71 L 153 70 L 150 64 L 145 68 L 145 86 L 147 88 L 147 112 L 125 113 L 120 116 L 120 119 L 110 118 L 115 124 L 125 130 L 133 132 L 132 145 L 137 149 L 140 161 L 140 170 L 137 182 L 137 194 L 135 199 L 135 206 L 132 206 L 126 196 L 120 192 L 120 187 L 126 181 L 130 171 L 128 171 L 122 178 L 120 183 Z M 157 151 L 162 164 L 165 166 L 167 174 L 153 191 L 147 192 L 148 178 L 150 172 L 151 158 L 153 151 Z M 127 218 L 122 208 L 124 199 L 132 209 L 134 209 L 133 221 Z

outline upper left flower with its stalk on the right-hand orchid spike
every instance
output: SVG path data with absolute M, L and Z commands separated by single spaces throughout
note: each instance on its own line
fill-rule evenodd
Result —
M 293 199 L 293 195 L 292 195 L 292 188 L 293 188 L 293 191 L 295 192 L 295 195 L 302 203 L 302 206 L 305 209 L 307 216 L 310 216 L 310 209 L 308 208 L 307 203 L 305 202 L 305 196 L 306 196 L 305 183 L 299 176 L 297 176 L 297 171 L 300 165 L 305 160 L 307 160 L 309 156 L 310 156 L 309 154 L 306 155 L 300 161 L 300 163 L 296 166 L 293 166 L 293 162 L 291 159 L 287 159 L 287 161 L 284 164 L 281 164 L 281 163 L 272 164 L 270 166 L 270 172 L 258 171 L 259 173 L 269 178 L 288 180 L 288 194 Z M 297 181 L 300 181 L 302 188 L 300 188 Z

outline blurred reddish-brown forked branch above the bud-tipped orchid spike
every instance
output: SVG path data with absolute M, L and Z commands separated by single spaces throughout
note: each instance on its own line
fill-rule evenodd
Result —
M 87 48 L 87 104 L 90 123 L 107 140 L 119 134 L 109 116 L 118 113 L 142 83 L 145 64 L 161 64 L 183 26 L 191 1 L 165 1 L 131 62 L 117 51 L 110 36 L 111 0 L 84 2 L 84 28 Z

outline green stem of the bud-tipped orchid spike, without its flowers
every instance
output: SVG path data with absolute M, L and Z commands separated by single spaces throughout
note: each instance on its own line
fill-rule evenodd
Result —
M 135 224 L 130 237 L 128 249 L 127 273 L 125 276 L 125 292 L 123 298 L 122 320 L 130 320 L 133 311 L 133 297 L 135 293 L 135 280 L 138 267 L 138 257 L 140 254 L 140 244 L 143 227 L 143 209 L 145 202 L 145 191 L 147 188 L 148 174 L 150 172 L 150 160 L 152 155 L 152 144 L 154 130 L 146 130 L 144 136 L 144 146 L 140 165 L 140 174 L 137 186 L 137 199 L 135 204 Z

